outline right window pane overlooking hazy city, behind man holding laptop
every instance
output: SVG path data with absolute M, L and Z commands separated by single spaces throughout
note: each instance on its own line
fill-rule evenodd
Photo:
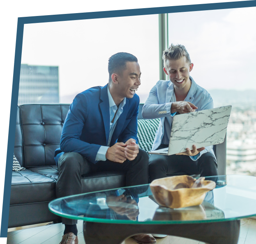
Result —
M 182 44 L 191 77 L 214 106 L 232 105 L 227 174 L 256 176 L 256 7 L 168 14 L 168 44 Z

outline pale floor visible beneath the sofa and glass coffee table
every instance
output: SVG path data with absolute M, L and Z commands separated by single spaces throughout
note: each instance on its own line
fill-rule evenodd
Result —
M 82 233 L 82 222 L 78 221 L 79 244 L 85 244 Z M 52 224 L 10 231 L 7 234 L 7 244 L 59 244 L 64 231 L 63 224 Z M 167 236 L 156 238 L 158 244 L 204 244 L 191 239 Z M 256 243 L 256 220 L 242 219 L 238 244 Z M 137 244 L 133 238 L 126 239 L 122 244 Z

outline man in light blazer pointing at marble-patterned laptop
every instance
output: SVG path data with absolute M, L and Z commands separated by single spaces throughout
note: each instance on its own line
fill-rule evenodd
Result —
M 151 151 L 169 146 L 173 117 L 213 108 L 210 94 L 198 86 L 190 76 L 194 64 L 183 45 L 173 45 L 163 52 L 164 71 L 168 81 L 160 80 L 151 89 L 142 108 L 145 119 L 160 118 Z M 151 154 L 149 157 L 150 182 L 179 171 L 201 176 L 217 175 L 217 161 L 213 146 L 197 148 L 193 145 L 186 152 L 165 156 Z

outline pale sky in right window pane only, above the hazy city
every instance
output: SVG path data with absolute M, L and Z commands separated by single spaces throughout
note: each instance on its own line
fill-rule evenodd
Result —
M 256 7 L 169 14 L 169 44 L 182 44 L 206 90 L 256 90 Z

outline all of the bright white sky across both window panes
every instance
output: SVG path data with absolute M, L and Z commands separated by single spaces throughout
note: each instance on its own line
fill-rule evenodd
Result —
M 168 14 L 169 44 L 190 54 L 194 81 L 206 90 L 256 90 L 256 7 Z M 137 94 L 145 102 L 159 80 L 158 15 L 33 23 L 24 26 L 21 63 L 59 66 L 59 96 L 108 81 L 117 52 L 138 59 Z M 62 101 L 63 102 L 63 101 Z

